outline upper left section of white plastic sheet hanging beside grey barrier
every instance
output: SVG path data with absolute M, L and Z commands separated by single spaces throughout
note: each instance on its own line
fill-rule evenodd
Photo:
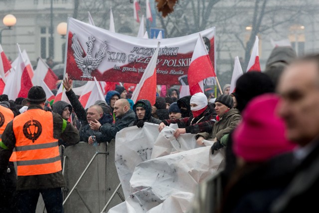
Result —
M 159 125 L 151 123 L 145 123 L 143 128 L 124 128 L 116 134 L 115 165 L 125 198 L 130 195 L 130 179 L 135 167 L 151 159 L 159 134 Z

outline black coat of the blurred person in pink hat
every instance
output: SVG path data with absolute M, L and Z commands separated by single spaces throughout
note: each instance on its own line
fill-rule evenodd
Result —
M 290 152 L 236 170 L 224 189 L 221 212 L 269 213 L 273 201 L 292 180 L 296 168 L 292 162 L 294 155 Z M 300 200 L 297 203 L 299 202 Z

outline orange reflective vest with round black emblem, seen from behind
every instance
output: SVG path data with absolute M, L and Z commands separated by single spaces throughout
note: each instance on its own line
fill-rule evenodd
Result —
M 51 112 L 30 109 L 13 119 L 18 176 L 44 175 L 62 170 Z

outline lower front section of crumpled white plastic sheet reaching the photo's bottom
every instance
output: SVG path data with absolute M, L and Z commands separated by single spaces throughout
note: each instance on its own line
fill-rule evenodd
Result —
M 184 213 L 195 188 L 220 169 L 224 150 L 211 147 L 170 154 L 140 163 L 131 178 L 131 195 L 109 213 Z M 169 211 L 168 211 L 169 210 Z

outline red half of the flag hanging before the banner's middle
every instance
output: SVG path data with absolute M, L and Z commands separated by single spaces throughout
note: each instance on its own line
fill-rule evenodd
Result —
M 140 99 L 147 99 L 151 102 L 151 105 L 153 106 L 156 101 L 156 69 L 154 70 L 154 74 L 147 78 L 143 86 L 140 90 L 140 93 L 138 95 L 137 101 Z

